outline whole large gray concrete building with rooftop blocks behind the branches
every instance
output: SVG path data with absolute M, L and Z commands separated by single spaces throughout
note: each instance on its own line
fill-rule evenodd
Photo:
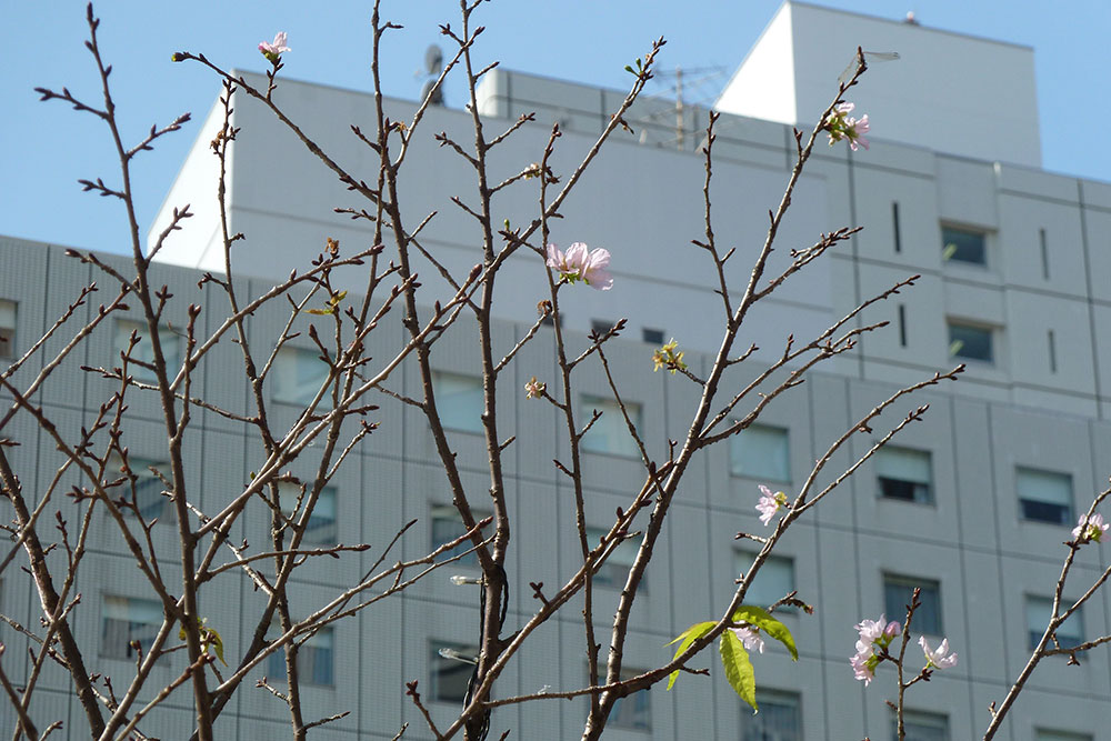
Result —
M 819 36 L 823 43 L 844 43 L 820 46 Z M 1031 631 L 1044 624 L 1045 599 L 1065 554 L 1061 541 L 1111 472 L 1111 288 L 1101 280 L 1111 274 L 1111 186 L 1039 169 L 1035 119 L 1014 114 L 1035 104 L 1030 49 L 785 3 L 718 102 L 727 113 L 718 126 L 712 198 L 719 240 L 737 247 L 730 278 L 744 280 L 751 264 L 747 259 L 762 243 L 767 211 L 778 203 L 791 166 L 791 124 L 812 124 L 821 101 L 834 94 L 837 76 L 857 46 L 901 54 L 898 62 L 875 66 L 860 94 L 850 96 L 859 103 L 858 112 L 870 114 L 877 136 L 868 151 L 821 144 L 799 184 L 773 263 L 783 264 L 790 248 L 813 243 L 820 232 L 853 224 L 864 230 L 758 306 L 741 344 L 754 342 L 761 350 L 753 367 L 747 363 L 730 381 L 739 384 L 754 375 L 761 361 L 782 352 L 789 334 L 814 336 L 861 299 L 908 276 L 922 278 L 862 320 L 887 319 L 888 328 L 811 373 L 803 387 L 778 400 L 759 425 L 730 445 L 698 459 L 677 500 L 667 551 L 653 560 L 638 601 L 627 651 L 630 668 L 665 661 L 667 641 L 721 609 L 750 558 L 733 535 L 761 528 L 753 509 L 759 483 L 790 491 L 832 440 L 900 384 L 957 362 L 967 363 L 968 371 L 959 383 L 922 393 L 884 414 L 882 419 L 893 424 L 913 405 L 931 404 L 923 422 L 900 434 L 898 445 L 882 451 L 814 518 L 800 522 L 779 559 L 767 564 L 750 601 L 770 602 L 798 589 L 818 611 L 784 618 L 800 648 L 797 664 L 774 647 L 754 657 L 761 713 L 745 712 L 719 677 L 683 677 L 670 693 L 659 688 L 623 701 L 607 738 L 890 738 L 891 713 L 883 702 L 892 695 L 890 675 L 881 671 L 868 690 L 853 681 L 848 664 L 855 640 L 852 624 L 881 611 L 893 617 L 913 585 L 922 587 L 924 594 L 920 630 L 947 635 L 960 653 L 960 664 L 909 694 L 914 728 L 910 738 L 973 738 L 987 724 L 989 703 L 1002 699 L 1023 665 Z M 248 79 L 264 83 L 261 76 Z M 985 90 L 995 94 L 985 96 Z M 553 167 L 565 173 L 622 98 L 615 91 L 491 71 L 479 101 L 489 127 L 507 127 L 520 113 L 538 112 L 536 124 L 492 153 L 494 173 L 509 176 L 539 160 L 553 121 L 564 132 Z M 374 171 L 373 153 L 348 130 L 351 122 L 371 120 L 369 96 L 283 80 L 276 99 L 291 119 L 304 123 L 310 137 L 327 142 L 334 159 L 357 172 Z M 980 123 L 923 130 L 922 117 L 935 110 L 939 100 Z M 398 120 L 416 108 L 410 101 L 389 104 Z M 647 100 L 637 106 L 629 117 L 635 133 L 618 137 L 603 151 L 553 232 L 561 246 L 585 241 L 613 254 L 613 290 L 575 291 L 564 327 L 582 341 L 595 324 L 630 319 L 623 338 L 615 341 L 620 350 L 611 352 L 612 362 L 655 454 L 662 454 L 669 437 L 685 430 L 693 387 L 653 374 L 652 350 L 675 337 L 688 349 L 692 369 L 704 369 L 720 337 L 714 322 L 707 321 L 720 313 L 719 300 L 707 288 L 712 266 L 690 246 L 702 236 L 704 162 L 698 150 L 708 114 L 688 107 L 682 137 L 677 137 L 674 126 L 659 122 L 660 104 Z M 177 297 L 171 323 L 183 321 L 189 302 L 216 307 L 220 301 L 211 287 L 197 288 L 199 271 L 223 268 L 211 194 L 216 161 L 209 153 L 220 116 L 214 107 L 202 124 L 151 228 L 157 234 L 170 210 L 186 202 L 198 214 L 186 238 L 170 242 L 159 257 L 166 263 L 160 278 Z M 339 239 L 346 249 L 369 246 L 368 231 L 332 212 L 337 206 L 353 204 L 350 194 L 291 134 L 246 98 L 237 101 L 234 117 L 243 132 L 232 148 L 228 206 L 232 232 L 247 236 L 236 248 L 236 259 L 250 291 L 264 291 L 291 268 L 307 264 L 326 237 Z M 424 126 L 430 134 L 443 130 L 463 138 L 469 114 L 432 109 Z M 677 141 L 685 143 L 679 147 Z M 270 174 L 274 152 L 282 153 L 280 181 Z M 478 261 L 477 234 L 470 217 L 453 209 L 449 198 L 468 192 L 469 168 L 431 136 L 419 140 L 408 157 L 407 216 L 418 223 L 438 211 L 423 243 L 449 269 L 466 273 Z M 511 221 L 531 218 L 536 193 L 507 191 L 499 208 Z M 7 240 L 0 244 L 0 333 L 13 336 L 16 351 L 27 349 L 93 278 L 90 267 L 67 260 L 59 248 Z M 430 267 L 421 274 L 430 304 L 446 284 Z M 354 293 L 356 276 L 350 278 Z M 47 280 L 50 290 L 42 291 Z M 498 341 L 507 349 L 528 331 L 528 318 L 534 316 L 544 287 L 534 257 L 521 256 L 506 266 Z M 219 317 L 219 310 L 203 314 L 208 329 L 214 329 Z M 281 322 L 278 316 L 260 316 L 251 331 L 254 337 L 277 337 Z M 110 366 L 119 338 L 130 329 L 126 320 L 117 320 L 114 329 L 94 336 L 83 362 Z M 391 332 L 398 331 L 376 332 L 372 342 L 384 354 L 396 347 L 400 336 Z M 301 347 L 311 358 L 307 340 Z M 201 369 L 200 382 L 220 403 L 246 410 L 246 384 L 228 381 L 236 353 L 221 358 Z M 303 391 L 297 379 L 306 358 L 291 352 L 282 362 L 288 369 L 276 377 L 270 394 L 277 413 L 292 419 Z M 448 423 L 470 477 L 467 484 L 481 491 L 484 457 L 471 393 L 479 361 L 466 324 L 444 337 L 433 363 L 441 371 L 441 388 L 453 399 Z M 23 377 L 32 370 L 26 369 Z M 550 342 L 529 346 L 516 373 L 512 383 L 503 383 L 504 398 L 499 400 L 503 424 L 518 435 L 508 481 L 520 529 L 511 555 L 514 601 L 507 625 L 531 614 L 529 582 L 552 584 L 573 573 L 577 553 L 569 490 L 551 465 L 553 457 L 565 453 L 567 442 L 551 410 L 526 403 L 520 393 L 533 374 L 552 378 Z M 410 369 L 398 381 L 399 390 L 416 382 Z M 56 374 L 52 383 L 43 404 L 69 429 L 88 422 L 109 392 L 107 382 L 72 368 Z M 608 387 L 600 371 L 584 370 L 580 383 L 581 404 L 604 409 Z M 134 435 L 133 452 L 143 454 L 148 445 L 146 454 L 157 462 L 153 400 L 149 408 L 140 400 L 132 407 L 151 420 L 148 430 L 139 424 L 128 430 Z M 382 432 L 333 481 L 331 521 L 323 515 L 319 535 L 321 542 L 381 543 L 400 523 L 419 518 L 423 534 L 403 543 L 404 554 L 414 557 L 454 532 L 453 517 L 444 509 L 446 484 L 430 437 L 413 410 L 383 404 L 380 421 Z M 24 462 L 54 454 L 52 444 L 22 418 L 3 434 L 21 439 L 14 454 Z M 234 489 L 247 480 L 258 452 L 239 427 L 209 412 L 202 413 L 196 434 L 201 439 L 191 467 L 193 490 L 201 492 L 202 508 L 217 505 L 231 495 L 229 482 Z M 837 462 L 848 465 L 849 454 L 862 454 L 871 440 L 858 437 Z M 599 528 L 607 527 L 630 489 L 639 488 L 640 464 L 630 457 L 617 424 L 599 424 L 588 448 L 588 514 Z M 42 485 L 51 469 L 39 470 L 40 480 L 24 485 Z M 156 499 L 152 507 L 158 505 Z M 261 525 L 242 533 L 257 541 L 263 534 Z M 168 533 L 166 543 L 169 547 Z M 1107 548 L 1092 544 L 1081 551 L 1067 597 L 1078 597 L 1099 575 Z M 306 609 L 351 583 L 377 555 L 371 551 L 301 572 Z M 613 573 L 603 581 L 618 584 L 620 558 L 614 561 Z M 128 623 L 132 632 L 127 634 L 133 637 L 144 624 L 133 567 L 104 534 L 84 569 L 82 630 L 90 642 L 101 642 L 104 665 L 98 670 L 123 674 L 131 659 L 127 641 L 120 643 L 120 625 Z M 603 583 L 599 592 L 598 614 L 604 615 L 615 603 L 618 588 Z M 6 613 L 10 610 L 16 620 L 33 625 L 34 604 L 26 581 L 4 579 L 0 607 Z M 250 585 L 243 582 L 212 609 L 212 624 L 229 627 L 223 634 L 233 655 L 236 643 L 229 637 L 236 630 L 230 627 L 238 625 L 238 641 L 248 639 L 251 604 Z M 1061 640 L 1111 632 L 1109 610 L 1111 597 L 1092 600 L 1080 620 L 1062 629 Z M 573 608 L 565 612 L 538 633 L 502 680 L 500 693 L 581 685 L 581 619 Z M 477 595 L 437 579 L 321 634 L 311 647 L 310 707 L 318 715 L 352 713 L 321 730 L 320 738 L 389 739 L 407 720 L 412 725 L 406 738 L 427 738 L 403 697 L 403 682 L 421 680 L 431 688 L 436 717 L 450 715 L 458 671 L 436 651 L 472 643 L 477 621 Z M 7 642 L 6 630 L 0 625 Z M 713 661 L 710 655 L 702 663 L 712 668 Z M 40 692 L 53 698 L 59 713 L 77 719 L 60 672 L 48 673 Z M 1079 667 L 1048 661 L 1028 684 L 1003 738 L 1101 738 L 1111 723 L 1109 697 L 1111 669 L 1099 651 Z M 220 719 L 220 738 L 280 738 L 279 710 L 266 693 L 244 689 L 234 711 Z M 180 738 L 188 715 L 171 698 L 152 717 L 148 732 Z M 6 725 L 10 718 L 8 709 L 0 709 Z M 513 728 L 516 735 L 529 739 L 578 738 L 582 718 L 581 703 L 532 703 L 500 710 L 494 729 L 500 733 Z

